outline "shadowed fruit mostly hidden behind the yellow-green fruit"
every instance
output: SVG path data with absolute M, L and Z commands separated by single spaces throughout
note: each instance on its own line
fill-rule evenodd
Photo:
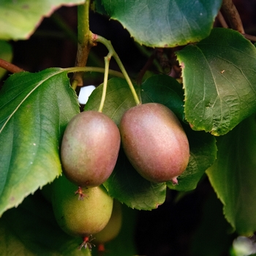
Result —
M 118 236 L 119 231 L 121 230 L 122 224 L 122 212 L 121 212 L 121 203 L 117 200 L 113 201 L 113 211 L 110 217 L 108 224 L 101 230 L 99 233 L 94 235 L 95 244 L 105 244 L 113 240 Z

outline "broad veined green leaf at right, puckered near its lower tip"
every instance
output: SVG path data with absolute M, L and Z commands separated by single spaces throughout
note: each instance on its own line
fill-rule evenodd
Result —
M 256 49 L 237 31 L 214 29 L 177 52 L 192 129 L 224 135 L 256 110 Z

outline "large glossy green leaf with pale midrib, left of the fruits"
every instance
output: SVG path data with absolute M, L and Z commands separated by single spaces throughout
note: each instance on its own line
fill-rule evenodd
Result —
M 59 143 L 79 105 L 59 68 L 10 76 L 0 99 L 1 215 L 59 176 Z

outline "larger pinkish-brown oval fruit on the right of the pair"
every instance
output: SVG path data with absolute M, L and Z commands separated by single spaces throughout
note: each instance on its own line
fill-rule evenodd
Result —
M 189 162 L 189 142 L 173 111 L 159 103 L 138 105 L 124 113 L 119 129 L 124 152 L 143 178 L 178 183 Z

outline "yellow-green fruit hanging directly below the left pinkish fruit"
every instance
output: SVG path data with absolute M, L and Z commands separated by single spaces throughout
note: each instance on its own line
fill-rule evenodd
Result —
M 53 182 L 52 189 L 53 213 L 65 233 L 86 237 L 99 233 L 108 224 L 113 198 L 103 187 L 84 189 L 86 197 L 78 200 L 74 193 L 77 186 L 61 176 Z

